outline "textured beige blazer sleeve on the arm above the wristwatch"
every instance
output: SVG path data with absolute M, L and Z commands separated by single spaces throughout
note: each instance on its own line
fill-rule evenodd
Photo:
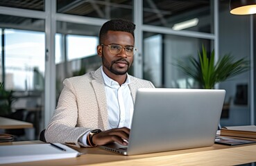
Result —
M 46 127 L 46 142 L 60 142 L 80 147 L 78 139 L 89 131 L 89 128 L 76 127 L 78 119 L 76 91 L 69 79 L 64 80 L 63 84 L 58 106 Z

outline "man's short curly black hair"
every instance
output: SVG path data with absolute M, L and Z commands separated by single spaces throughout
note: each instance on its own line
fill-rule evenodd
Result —
M 101 30 L 99 33 L 100 44 L 103 44 L 103 40 L 105 39 L 108 30 L 130 33 L 134 37 L 135 24 L 133 24 L 132 21 L 128 21 L 125 19 L 111 19 L 105 22 L 103 26 L 101 26 Z

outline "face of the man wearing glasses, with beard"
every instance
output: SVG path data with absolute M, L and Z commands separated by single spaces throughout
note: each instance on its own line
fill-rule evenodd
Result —
M 101 56 L 103 62 L 103 70 L 107 75 L 125 75 L 133 64 L 133 55 L 127 56 L 125 50 L 122 48 L 118 54 L 110 53 L 110 44 L 118 44 L 120 46 L 134 46 L 133 35 L 121 31 L 108 31 L 103 44 L 105 46 L 98 46 L 97 51 Z

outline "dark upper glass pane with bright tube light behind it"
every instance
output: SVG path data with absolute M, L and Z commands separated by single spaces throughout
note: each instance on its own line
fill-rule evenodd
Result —
M 143 23 L 214 33 L 213 1 L 144 0 Z

